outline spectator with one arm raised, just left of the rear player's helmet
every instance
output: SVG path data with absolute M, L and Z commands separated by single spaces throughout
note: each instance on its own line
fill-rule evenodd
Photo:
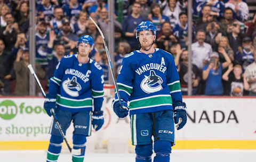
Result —
M 56 35 L 52 30 L 50 32 L 50 40 L 47 44 L 47 58 L 48 58 L 48 71 L 47 71 L 47 79 L 53 77 L 54 71 L 56 69 L 57 64 L 60 62 L 61 58 L 65 55 L 65 47 L 62 44 L 55 44 L 53 48 L 54 40 L 56 39 Z

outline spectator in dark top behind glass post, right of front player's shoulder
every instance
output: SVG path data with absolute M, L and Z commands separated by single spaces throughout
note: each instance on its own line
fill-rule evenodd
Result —
M 178 48 L 177 48 L 178 49 Z M 176 61 L 180 58 L 182 61 Z M 176 66 L 178 66 L 178 72 L 180 76 L 180 86 L 182 95 L 188 95 L 188 50 L 182 49 L 177 50 L 177 55 L 175 57 Z M 197 87 L 201 79 L 201 70 L 199 70 L 195 64 L 192 64 L 192 95 L 197 94 Z

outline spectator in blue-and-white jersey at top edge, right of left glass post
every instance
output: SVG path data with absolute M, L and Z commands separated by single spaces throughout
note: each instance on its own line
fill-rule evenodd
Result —
M 58 1 L 55 1 L 58 2 Z M 50 0 L 42 0 L 41 4 L 37 5 L 37 14 L 38 15 L 44 15 L 44 21 L 45 22 L 50 22 L 52 18 L 54 17 L 53 12 L 54 12 L 54 7 L 55 5 L 51 4 Z M 42 20 L 40 20 L 42 21 Z

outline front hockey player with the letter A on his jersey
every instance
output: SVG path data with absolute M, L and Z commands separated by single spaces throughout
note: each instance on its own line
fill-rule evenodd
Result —
M 174 145 L 174 123 L 178 124 L 182 119 L 177 125 L 181 129 L 187 121 L 186 104 L 182 102 L 172 54 L 153 47 L 156 39 L 153 23 L 142 21 L 136 30 L 141 48 L 123 59 L 117 77 L 121 104 L 116 95 L 113 108 L 119 118 L 130 113 L 135 161 L 151 161 L 151 137 L 154 136 L 154 162 L 167 162 Z M 129 110 L 125 109 L 128 101 Z

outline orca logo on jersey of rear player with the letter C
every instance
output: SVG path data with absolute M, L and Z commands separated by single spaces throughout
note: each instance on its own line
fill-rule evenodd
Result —
M 70 96 L 77 97 L 78 92 L 82 90 L 82 87 L 76 81 L 76 77 L 74 76 L 71 80 L 68 78 L 62 83 L 63 90 L 69 94 Z

